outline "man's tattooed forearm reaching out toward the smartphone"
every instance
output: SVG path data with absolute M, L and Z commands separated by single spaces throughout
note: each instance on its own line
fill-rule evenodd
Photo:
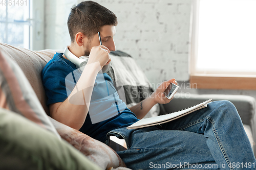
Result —
M 150 96 L 129 109 L 136 114 L 137 118 L 141 119 L 156 104 L 157 103 L 155 102 L 154 98 L 151 98 Z

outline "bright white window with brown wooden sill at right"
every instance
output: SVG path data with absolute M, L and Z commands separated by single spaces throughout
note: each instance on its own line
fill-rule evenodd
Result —
M 255 7 L 256 0 L 195 1 L 191 83 L 198 88 L 256 89 Z

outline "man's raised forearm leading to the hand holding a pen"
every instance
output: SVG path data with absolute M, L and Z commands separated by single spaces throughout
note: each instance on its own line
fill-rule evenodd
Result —
M 89 110 L 93 86 L 100 68 L 99 63 L 84 67 L 82 75 L 68 99 L 55 105 L 53 109 L 50 108 L 51 116 L 54 119 L 77 130 L 82 127 Z

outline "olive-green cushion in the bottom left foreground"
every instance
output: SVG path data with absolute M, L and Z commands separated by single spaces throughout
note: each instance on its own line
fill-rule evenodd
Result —
M 65 140 L 0 108 L 0 169 L 101 169 Z

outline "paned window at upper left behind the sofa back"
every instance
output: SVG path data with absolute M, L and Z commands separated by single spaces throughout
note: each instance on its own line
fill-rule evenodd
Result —
M 30 50 L 44 48 L 44 1 L 0 0 L 0 42 Z

